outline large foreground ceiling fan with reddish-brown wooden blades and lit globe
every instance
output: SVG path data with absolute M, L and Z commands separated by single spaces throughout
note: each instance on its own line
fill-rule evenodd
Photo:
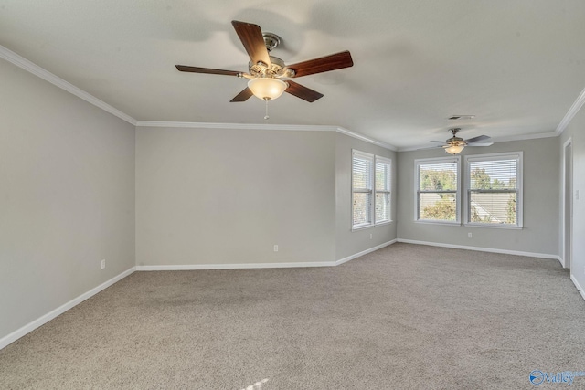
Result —
M 274 47 L 280 44 L 280 37 L 272 33 L 262 33 L 260 26 L 251 23 L 233 20 L 231 24 L 236 29 L 239 40 L 250 56 L 248 72 L 176 65 L 176 69 L 182 72 L 237 76 L 249 79 L 248 87 L 229 100 L 231 102 L 246 101 L 252 95 L 268 102 L 268 100 L 281 96 L 282 92 L 287 92 L 312 103 L 322 98 L 323 94 L 289 79 L 349 68 L 354 65 L 349 51 L 285 65 L 281 58 L 269 54 Z M 283 81 L 282 79 L 287 80 Z M 268 119 L 268 115 L 264 119 Z

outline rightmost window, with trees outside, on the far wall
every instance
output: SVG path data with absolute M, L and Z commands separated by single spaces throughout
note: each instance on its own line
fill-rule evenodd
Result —
M 466 223 L 522 227 L 522 152 L 465 156 Z

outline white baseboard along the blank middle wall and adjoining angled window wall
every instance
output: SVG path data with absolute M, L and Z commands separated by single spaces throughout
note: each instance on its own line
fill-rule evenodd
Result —
M 197 269 L 292 269 L 298 267 L 335 267 L 354 258 L 367 255 L 380 248 L 394 244 L 396 240 L 385 242 L 373 248 L 368 248 L 355 255 L 337 261 L 303 261 L 291 263 L 242 263 L 242 264 L 185 264 L 172 266 L 136 266 L 137 271 L 180 271 Z

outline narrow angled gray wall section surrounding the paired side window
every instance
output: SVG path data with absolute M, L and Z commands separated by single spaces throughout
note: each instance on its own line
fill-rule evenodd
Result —
M 351 160 L 352 149 L 377 154 L 392 160 L 392 222 L 378 227 L 351 231 Z M 396 153 L 335 133 L 335 259 L 340 260 L 396 239 Z M 370 239 L 370 234 L 372 238 Z

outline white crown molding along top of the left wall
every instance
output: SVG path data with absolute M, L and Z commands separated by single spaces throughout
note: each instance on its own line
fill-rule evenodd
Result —
M 77 88 L 73 84 L 65 81 L 64 79 L 59 78 L 58 76 L 54 75 L 53 73 L 49 72 L 46 69 L 42 69 L 38 65 L 29 61 L 27 58 L 23 58 L 17 55 L 14 51 L 11 51 L 1 45 L 0 58 L 4 58 L 6 61 L 16 65 L 18 68 L 27 70 L 28 72 L 34 74 L 38 78 L 50 82 L 51 84 L 57 86 L 61 90 L 68 91 L 69 93 L 77 96 L 82 100 L 89 102 L 90 104 L 93 104 L 94 106 L 100 108 L 103 111 L 110 112 L 112 115 L 120 118 L 122 121 L 127 121 L 128 123 L 134 126 L 136 125 L 136 120 L 133 119 L 133 117 L 131 117 L 130 115 L 127 115 L 122 111 L 113 108 L 110 104 L 104 102 L 103 100 L 99 100 L 95 96 L 90 95 L 85 90 Z

